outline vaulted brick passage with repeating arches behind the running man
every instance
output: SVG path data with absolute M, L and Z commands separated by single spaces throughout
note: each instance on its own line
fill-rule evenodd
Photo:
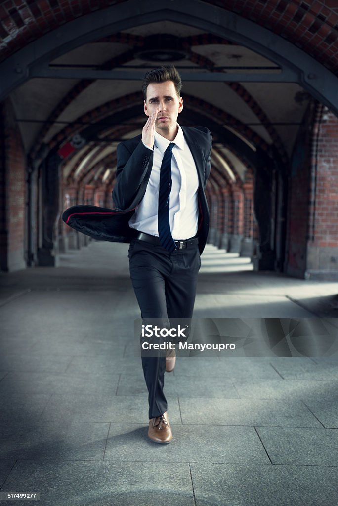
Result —
M 1 12 L 1 270 L 57 265 L 87 242 L 62 211 L 112 206 L 116 145 L 145 122 L 141 79 L 172 62 L 180 121 L 213 134 L 208 241 L 255 270 L 338 277 L 334 10 L 54 4 Z

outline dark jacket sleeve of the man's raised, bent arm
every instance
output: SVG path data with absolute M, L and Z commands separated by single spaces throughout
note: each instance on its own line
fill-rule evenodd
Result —
M 153 151 L 141 141 L 132 151 L 121 142 L 117 146 L 116 157 L 116 182 L 112 197 L 116 206 L 124 210 L 133 204 L 150 162 L 152 166 Z

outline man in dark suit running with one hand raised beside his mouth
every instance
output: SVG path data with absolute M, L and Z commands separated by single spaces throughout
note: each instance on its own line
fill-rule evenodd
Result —
M 142 135 L 117 146 L 114 209 L 76 205 L 62 219 L 96 239 L 130 242 L 130 273 L 144 320 L 191 318 L 209 226 L 204 188 L 212 137 L 203 126 L 180 126 L 181 76 L 174 66 L 147 72 Z M 175 356 L 142 356 L 149 400 L 148 437 L 169 443 L 163 393 Z

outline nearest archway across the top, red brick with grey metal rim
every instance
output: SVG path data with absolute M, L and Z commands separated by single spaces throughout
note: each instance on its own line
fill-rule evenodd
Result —
M 57 1 L 55 3 L 59 6 Z M 57 14 L 53 13 L 53 9 L 48 12 L 46 3 L 44 9 L 50 21 L 42 18 L 39 23 L 40 9 L 35 6 L 32 14 L 27 6 L 25 15 L 32 42 L 24 48 L 28 28 L 20 12 L 15 8 L 7 12 L 3 9 L 0 36 L 3 37 L 1 55 L 4 61 L 0 64 L 0 73 L 4 79 L 0 86 L 0 100 L 32 76 L 54 75 L 46 65 L 71 49 L 117 30 L 167 19 L 220 37 L 226 33 L 228 39 L 276 62 L 287 79 L 299 82 L 317 100 L 338 114 L 335 93 L 338 88 L 338 32 L 335 29 L 338 18 L 334 11 L 323 8 L 319 0 L 311 9 L 309 6 L 306 9 L 305 4 L 299 6 L 296 2 L 283 0 L 278 5 L 273 0 L 268 0 L 264 6 L 258 2 L 255 7 L 248 0 L 240 3 L 227 0 L 223 7 L 216 6 L 214 0 L 198 4 L 186 0 L 175 6 L 158 0 L 155 8 L 151 0 L 144 0 L 142 4 L 138 0 L 130 0 L 128 9 L 125 3 L 122 0 L 109 7 L 106 0 L 99 10 L 96 6 L 83 7 L 81 3 L 72 3 L 72 6 L 57 10 Z M 319 7 L 325 14 L 319 12 Z M 103 11 L 105 16 L 102 16 Z M 304 27 L 313 34 L 310 40 Z M 41 36 L 41 32 L 45 34 Z M 34 44 L 35 40 L 39 44 Z M 45 73 L 41 73 L 43 68 Z M 106 77 L 112 78 L 112 75 L 110 73 Z M 184 73 L 182 77 L 187 80 Z

